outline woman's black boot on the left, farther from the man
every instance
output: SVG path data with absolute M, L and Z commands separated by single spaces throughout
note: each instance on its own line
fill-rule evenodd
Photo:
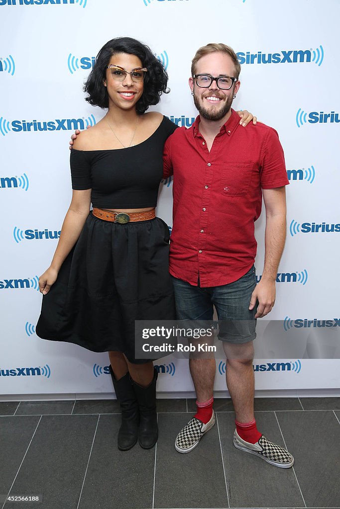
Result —
M 135 445 L 138 438 L 139 415 L 136 394 L 128 373 L 116 380 L 110 365 L 110 374 L 122 411 L 122 423 L 118 432 L 118 449 L 128 450 Z

